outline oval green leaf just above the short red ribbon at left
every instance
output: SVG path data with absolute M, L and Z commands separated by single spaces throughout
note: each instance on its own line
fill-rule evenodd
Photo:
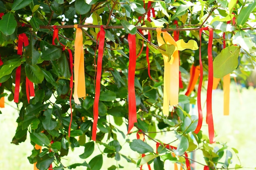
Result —
M 37 84 L 40 84 L 43 82 L 43 79 L 44 79 L 43 71 L 38 65 L 31 66 L 29 64 L 26 64 L 25 72 L 26 72 L 27 78 L 31 82 L 37 83 Z

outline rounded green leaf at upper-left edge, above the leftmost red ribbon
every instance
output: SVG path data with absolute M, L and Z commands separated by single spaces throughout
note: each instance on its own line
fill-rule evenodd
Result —
M 17 21 L 14 18 L 12 13 L 7 13 L 2 16 L 2 20 L 0 20 L 0 31 L 4 35 L 11 35 L 14 33 L 17 26 Z

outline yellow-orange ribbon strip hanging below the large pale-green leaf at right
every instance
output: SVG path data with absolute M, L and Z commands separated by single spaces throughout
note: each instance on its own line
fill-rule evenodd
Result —
M 230 74 L 223 77 L 224 115 L 229 115 Z

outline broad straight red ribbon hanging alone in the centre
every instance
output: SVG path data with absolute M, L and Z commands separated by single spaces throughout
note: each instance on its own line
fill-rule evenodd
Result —
M 137 109 L 135 97 L 135 68 L 136 68 L 136 39 L 135 35 L 128 35 L 129 67 L 128 67 L 128 133 L 131 132 L 134 123 L 137 123 Z

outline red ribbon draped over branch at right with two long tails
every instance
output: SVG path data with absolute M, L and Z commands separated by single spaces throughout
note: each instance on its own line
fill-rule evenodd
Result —
M 200 80 L 198 85 L 198 126 L 195 129 L 195 133 L 198 133 L 202 127 L 202 106 L 201 106 L 201 88 L 203 81 L 203 65 L 202 65 L 202 56 L 201 56 L 201 44 L 202 44 L 202 31 L 209 30 L 209 43 L 208 43 L 208 86 L 207 86 L 207 99 L 206 99 L 206 108 L 207 108 L 207 123 L 208 123 L 208 132 L 209 132 L 209 141 L 210 144 L 215 143 L 214 127 L 213 127 L 213 116 L 212 116 L 212 88 L 213 88 L 213 59 L 212 59 L 212 42 L 213 42 L 213 30 L 209 27 L 201 28 L 199 31 L 200 36 L 200 51 L 199 51 L 199 62 L 200 62 Z

